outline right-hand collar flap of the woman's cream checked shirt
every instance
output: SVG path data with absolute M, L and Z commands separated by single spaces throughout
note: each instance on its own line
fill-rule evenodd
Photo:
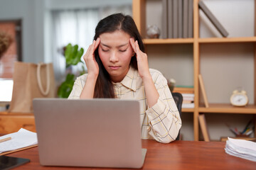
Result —
M 129 67 L 129 71 L 127 72 L 124 79 L 121 81 L 121 84 L 129 89 L 132 89 L 132 91 L 136 91 L 137 74 L 138 71 L 136 69 L 134 69 L 133 67 Z

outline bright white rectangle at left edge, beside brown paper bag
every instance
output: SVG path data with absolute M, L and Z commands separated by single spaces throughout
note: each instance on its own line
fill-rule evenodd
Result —
M 0 79 L 0 102 L 11 101 L 13 86 L 13 79 Z

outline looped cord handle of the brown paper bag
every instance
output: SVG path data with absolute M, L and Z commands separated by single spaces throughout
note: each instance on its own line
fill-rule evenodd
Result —
M 44 91 L 42 86 L 42 81 L 41 81 L 41 74 L 40 74 L 41 65 L 43 65 L 43 63 L 41 62 L 38 63 L 36 77 L 37 77 L 38 86 L 41 94 L 43 94 L 43 96 L 47 96 L 50 92 L 50 70 L 49 70 L 50 67 L 49 67 L 49 64 L 46 64 L 46 91 Z

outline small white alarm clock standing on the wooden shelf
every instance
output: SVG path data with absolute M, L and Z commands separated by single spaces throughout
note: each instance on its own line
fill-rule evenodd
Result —
M 246 95 L 246 91 L 233 91 L 233 94 L 230 96 L 230 103 L 233 106 L 246 106 L 249 102 L 249 99 Z

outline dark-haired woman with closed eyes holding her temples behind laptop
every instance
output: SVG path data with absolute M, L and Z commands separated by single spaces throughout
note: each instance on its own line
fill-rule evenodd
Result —
M 140 102 L 142 138 L 176 139 L 181 118 L 164 76 L 149 69 L 139 31 L 131 16 L 102 19 L 83 59 L 87 74 L 76 79 L 70 99 L 121 98 Z

